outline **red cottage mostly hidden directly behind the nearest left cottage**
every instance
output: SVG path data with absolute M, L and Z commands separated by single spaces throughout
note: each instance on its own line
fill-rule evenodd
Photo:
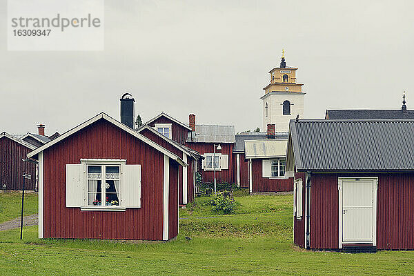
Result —
M 193 202 L 195 197 L 195 172 L 197 161 L 201 158 L 199 153 L 179 144 L 177 141 L 171 140 L 165 136 L 165 133 L 163 135 L 148 125 L 144 125 L 137 131 L 175 155 L 180 156 L 187 164 L 186 167 L 180 167 L 179 170 L 179 204 L 184 205 Z

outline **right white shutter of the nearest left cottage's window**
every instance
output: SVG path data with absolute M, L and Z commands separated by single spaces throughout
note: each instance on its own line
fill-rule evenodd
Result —
M 122 166 L 121 206 L 141 208 L 141 165 Z

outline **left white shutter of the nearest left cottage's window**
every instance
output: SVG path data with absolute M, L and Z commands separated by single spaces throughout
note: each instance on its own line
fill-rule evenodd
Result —
M 66 207 L 85 206 L 83 164 L 66 164 Z

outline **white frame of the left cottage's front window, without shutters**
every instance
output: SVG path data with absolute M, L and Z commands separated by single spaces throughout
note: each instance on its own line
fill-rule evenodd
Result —
M 81 210 L 112 210 L 112 211 L 125 211 L 126 208 L 122 206 L 122 182 L 123 182 L 123 170 L 126 164 L 126 159 L 81 159 L 81 164 L 83 166 L 83 206 Z M 88 205 L 88 166 L 101 166 L 102 170 L 102 179 L 104 179 L 106 166 L 119 166 L 119 206 L 91 206 Z M 105 196 L 105 193 L 102 193 L 102 196 Z

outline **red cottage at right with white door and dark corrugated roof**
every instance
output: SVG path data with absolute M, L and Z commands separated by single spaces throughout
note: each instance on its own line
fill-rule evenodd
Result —
M 290 121 L 294 242 L 414 249 L 414 120 Z

